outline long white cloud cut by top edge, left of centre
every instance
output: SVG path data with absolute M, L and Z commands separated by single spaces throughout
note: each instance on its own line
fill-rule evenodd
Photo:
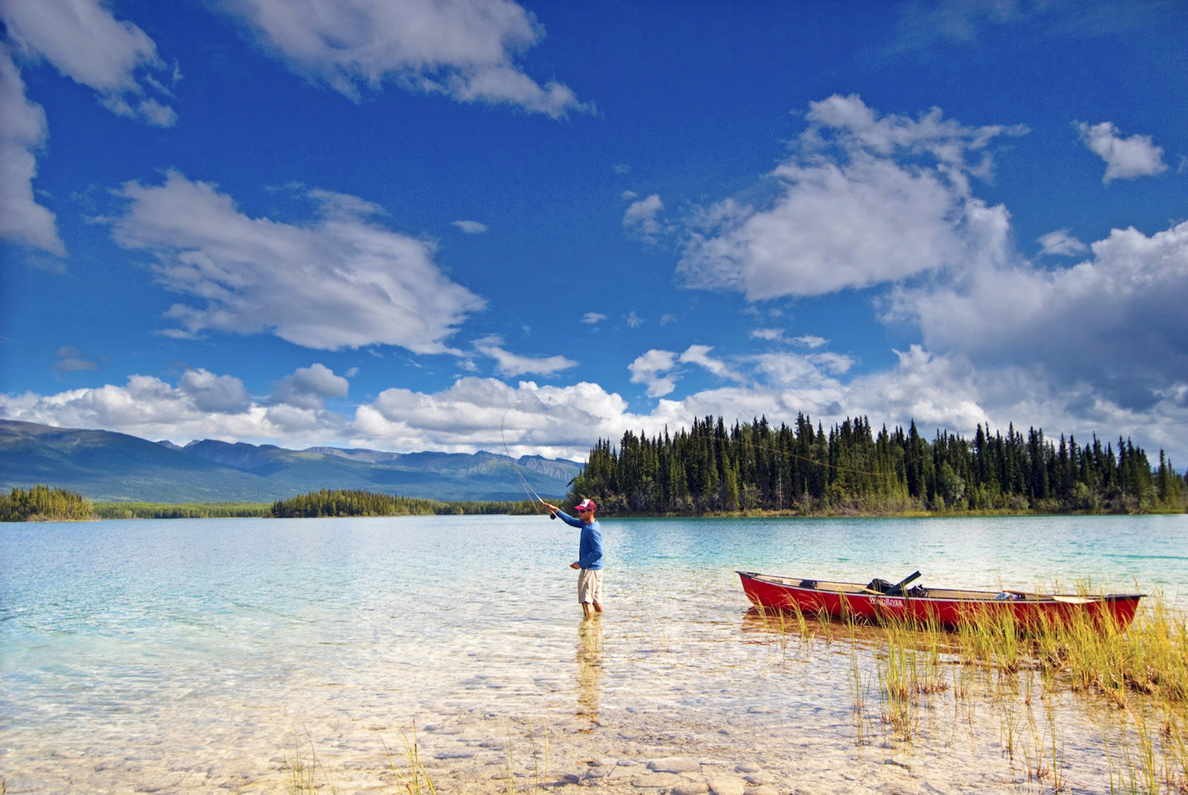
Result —
M 356 100 L 385 82 L 459 102 L 510 105 L 554 119 L 592 112 L 567 86 L 516 63 L 544 36 L 511 0 L 223 0 L 293 71 Z

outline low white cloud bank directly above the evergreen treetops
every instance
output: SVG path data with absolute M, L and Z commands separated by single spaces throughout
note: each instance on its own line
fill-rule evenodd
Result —
M 1013 422 L 1016 429 L 1073 434 L 1081 443 L 1093 434 L 1104 441 L 1120 434 L 1151 454 L 1163 448 L 1177 463 L 1188 461 L 1181 433 L 1188 425 L 1188 383 L 1168 390 L 1149 409 L 1133 410 L 1087 385 L 1070 389 L 1055 383 L 1042 367 L 974 366 L 960 354 L 937 354 L 917 345 L 896 353 L 895 366 L 848 381 L 826 372 L 813 357 L 757 357 L 752 384 L 662 399 L 646 418 L 634 417 L 636 425 L 625 418 L 624 429 L 666 424 L 671 431 L 704 416 L 722 416 L 727 423 L 766 416 L 772 423 L 792 425 L 803 412 L 826 428 L 845 417 L 866 416 L 876 429 L 906 428 L 915 421 L 925 436 L 944 429 L 969 438 L 979 423 L 1006 433 Z

